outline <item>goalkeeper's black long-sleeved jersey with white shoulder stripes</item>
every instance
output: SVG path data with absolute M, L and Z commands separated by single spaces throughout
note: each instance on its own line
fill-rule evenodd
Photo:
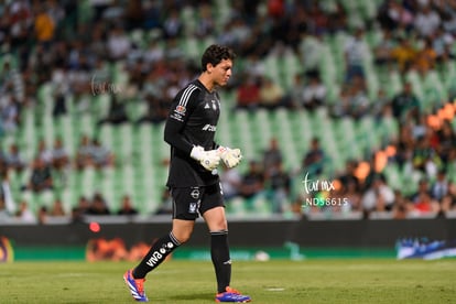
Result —
M 174 97 L 164 130 L 164 140 L 171 145 L 166 186 L 207 186 L 219 182 L 217 174 L 205 170 L 189 156 L 194 145 L 205 150 L 217 148 L 214 137 L 219 115 L 218 94 L 209 93 L 197 79 Z

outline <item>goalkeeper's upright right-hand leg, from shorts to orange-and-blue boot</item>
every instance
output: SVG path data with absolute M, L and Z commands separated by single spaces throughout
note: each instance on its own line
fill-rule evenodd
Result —
M 230 287 L 231 259 L 228 245 L 228 224 L 219 185 L 207 187 L 200 204 L 200 213 L 210 232 L 210 257 L 217 278 L 217 302 L 250 302 Z

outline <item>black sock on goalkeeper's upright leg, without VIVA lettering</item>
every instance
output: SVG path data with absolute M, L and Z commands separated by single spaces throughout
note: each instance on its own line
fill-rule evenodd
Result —
M 216 272 L 217 290 L 219 293 L 225 292 L 231 281 L 231 259 L 227 230 L 210 232 L 210 257 Z

